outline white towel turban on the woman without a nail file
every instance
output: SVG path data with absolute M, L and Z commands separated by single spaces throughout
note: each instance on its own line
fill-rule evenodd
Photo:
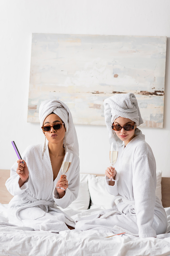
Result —
M 134 121 L 136 125 L 143 123 L 140 110 L 138 107 L 137 99 L 133 93 L 120 93 L 115 94 L 104 100 L 104 117 L 107 130 L 109 132 L 109 142 L 118 142 L 122 145 L 121 139 L 112 130 L 112 124 L 118 117 L 129 118 Z M 137 134 L 141 133 L 137 129 Z

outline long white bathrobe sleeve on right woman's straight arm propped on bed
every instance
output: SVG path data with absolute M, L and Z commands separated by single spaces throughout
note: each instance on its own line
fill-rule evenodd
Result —
M 133 193 L 139 237 L 156 237 L 152 228 L 155 207 L 156 163 L 147 147 L 137 147 L 133 165 Z

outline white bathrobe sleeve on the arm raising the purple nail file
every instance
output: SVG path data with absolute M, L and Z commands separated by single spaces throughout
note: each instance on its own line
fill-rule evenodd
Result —
M 22 154 L 23 159 L 26 159 L 26 153 L 24 152 Z M 22 187 L 19 187 L 19 175 L 16 173 L 17 171 L 17 166 L 18 163 L 15 162 L 14 165 L 11 168 L 11 174 L 10 174 L 10 178 L 8 178 L 6 180 L 5 186 L 7 188 L 7 190 L 13 195 L 13 196 L 17 196 L 19 194 L 22 194 L 25 190 L 28 189 L 28 185 L 29 185 L 29 180 L 30 178 L 27 179 L 27 181 L 24 183 L 24 185 Z

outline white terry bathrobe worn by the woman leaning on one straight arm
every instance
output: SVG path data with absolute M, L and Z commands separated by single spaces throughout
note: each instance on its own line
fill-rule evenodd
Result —
M 156 163 L 145 135 L 134 137 L 126 147 L 119 147 L 114 165 L 116 181 L 106 189 L 113 194 L 113 209 L 96 216 L 76 219 L 76 229 L 97 229 L 101 232 L 126 232 L 139 237 L 156 237 L 167 228 L 166 212 L 155 196 Z

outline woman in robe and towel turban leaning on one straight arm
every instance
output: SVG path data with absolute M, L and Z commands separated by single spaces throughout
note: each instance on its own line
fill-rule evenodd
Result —
M 155 195 L 156 163 L 145 135 L 137 99 L 133 93 L 116 94 L 104 100 L 110 143 L 119 144 L 118 158 L 105 171 L 106 189 L 114 196 L 112 209 L 77 219 L 76 229 L 96 229 L 136 237 L 156 237 L 167 228 L 166 212 Z M 109 181 L 110 177 L 114 181 Z

